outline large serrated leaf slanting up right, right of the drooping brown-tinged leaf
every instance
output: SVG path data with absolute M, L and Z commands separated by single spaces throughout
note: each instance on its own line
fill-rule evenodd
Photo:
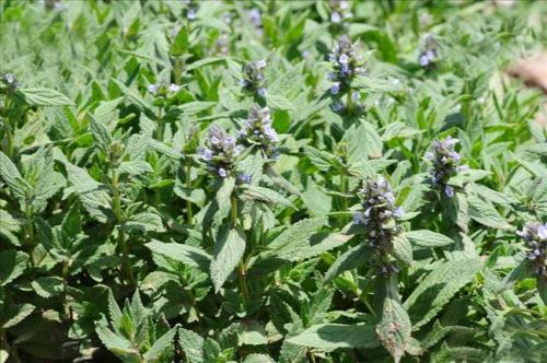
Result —
M 434 268 L 403 304 L 417 330 L 430 321 L 482 267 L 479 258 L 453 259 Z

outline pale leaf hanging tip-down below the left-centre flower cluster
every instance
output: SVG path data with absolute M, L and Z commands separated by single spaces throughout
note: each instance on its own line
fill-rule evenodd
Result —
M 211 280 L 214 291 L 219 292 L 224 282 L 237 267 L 245 253 L 245 239 L 235 230 L 222 227 L 214 242 L 214 254 L 211 260 Z

